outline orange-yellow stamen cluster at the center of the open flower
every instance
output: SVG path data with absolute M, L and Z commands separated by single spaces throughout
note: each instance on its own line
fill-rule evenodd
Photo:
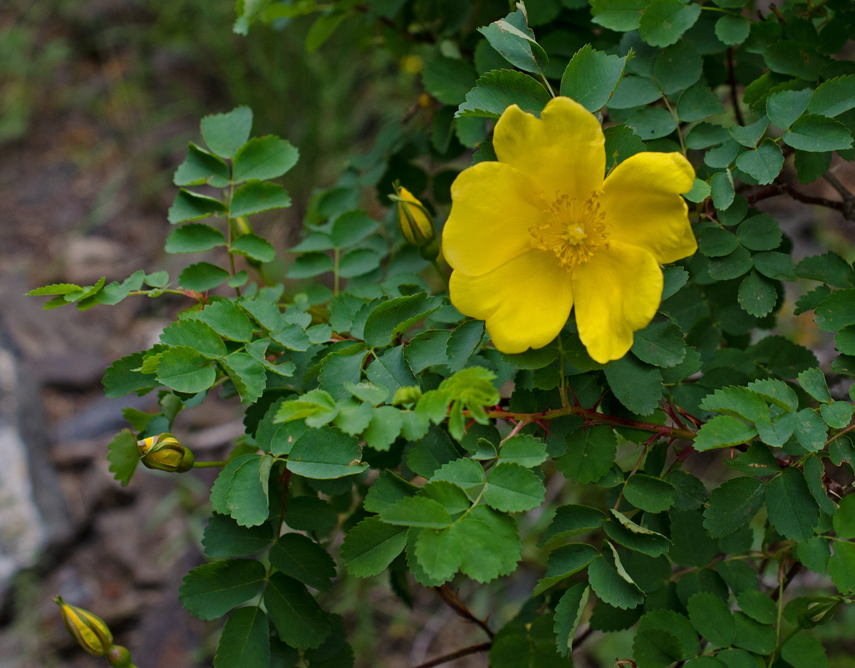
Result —
M 555 253 L 568 270 L 590 260 L 598 248 L 608 248 L 610 226 L 604 222 L 598 200 L 599 192 L 582 200 L 557 192 L 541 222 L 528 228 L 535 247 Z

